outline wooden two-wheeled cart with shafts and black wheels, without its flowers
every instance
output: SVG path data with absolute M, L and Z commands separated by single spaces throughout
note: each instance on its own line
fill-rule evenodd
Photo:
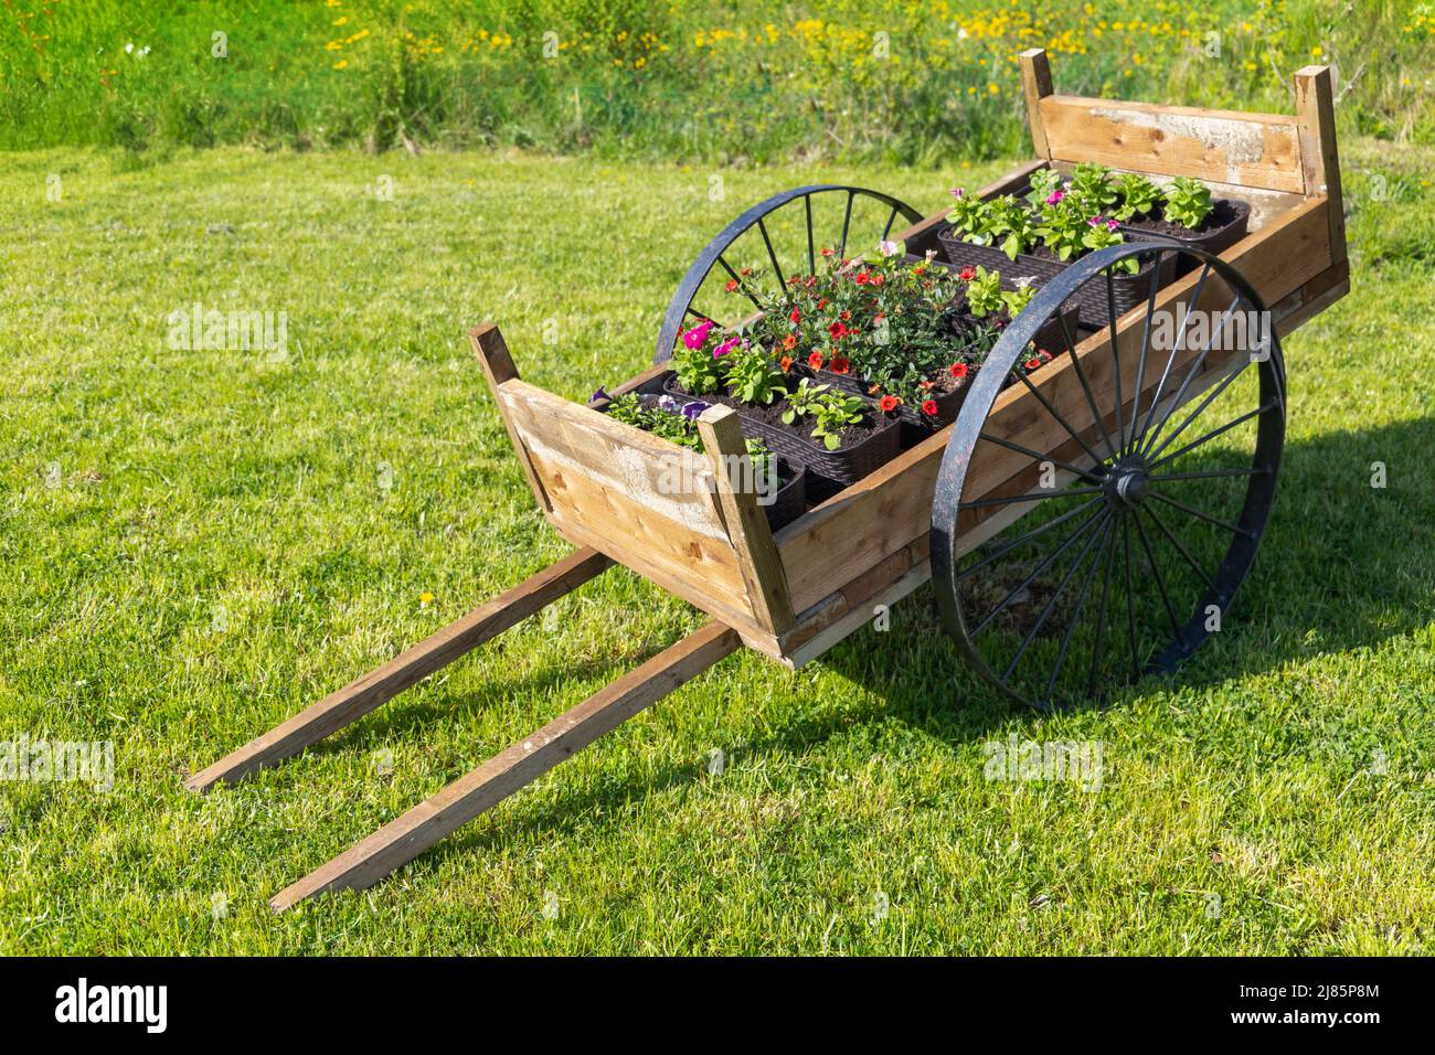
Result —
M 1349 289 L 1330 73 L 1296 73 L 1297 113 L 1289 118 L 1055 95 L 1039 50 L 1022 56 L 1022 69 L 1036 159 L 983 194 L 1022 188 L 1038 168 L 1099 161 L 1158 181 L 1205 179 L 1251 205 L 1248 235 L 1220 258 L 1164 243 L 1082 258 L 1003 334 L 954 425 L 775 534 L 755 495 L 726 471 L 743 452 L 736 413 L 702 416 L 706 456 L 697 455 L 525 383 L 498 329 L 479 326 L 474 347 L 518 461 L 548 522 L 577 551 L 188 787 L 234 781 L 301 751 L 613 563 L 712 619 L 278 893 L 276 910 L 377 881 L 740 644 L 801 666 L 928 578 L 977 670 L 1038 706 L 1095 695 L 1114 677 L 1170 670 L 1220 629 L 1254 558 L 1280 465 L 1277 332 L 1290 333 Z M 880 237 L 913 254 L 934 247 L 944 215 L 921 220 L 861 188 L 775 195 L 693 264 L 659 336 L 659 362 L 618 392 L 662 378 L 683 320 L 703 317 L 695 300 L 709 277 L 736 277 L 725 253 L 738 237 L 756 233 L 778 280 L 789 274 L 769 238 L 778 210 L 805 212 L 806 264 L 815 266 L 821 195 L 845 197 L 842 248 L 854 201 L 890 207 Z M 900 215 L 917 221 L 893 234 Z M 1092 283 L 1109 293 L 1122 260 L 1172 257 L 1187 273 L 1145 304 L 1098 332 L 1068 330 L 1066 347 L 1030 376 L 1013 369 L 1071 297 Z M 1175 339 L 1157 340 L 1168 319 L 1180 323 Z M 1201 319 L 1210 323 L 1204 339 L 1191 339 Z M 674 491 L 660 479 L 674 458 L 695 485 Z

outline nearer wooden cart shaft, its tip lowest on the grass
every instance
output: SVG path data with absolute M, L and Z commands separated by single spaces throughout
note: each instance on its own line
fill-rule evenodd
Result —
M 286 887 L 270 900 L 270 907 L 284 911 L 306 897 L 333 890 L 362 890 L 377 883 L 603 733 L 696 677 L 738 646 L 739 637 L 733 630 L 707 623 L 298 883 Z

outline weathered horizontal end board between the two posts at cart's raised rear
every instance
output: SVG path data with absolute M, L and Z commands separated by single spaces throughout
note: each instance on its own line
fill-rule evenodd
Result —
M 1040 100 L 1053 161 L 1304 192 L 1294 118 L 1050 95 Z

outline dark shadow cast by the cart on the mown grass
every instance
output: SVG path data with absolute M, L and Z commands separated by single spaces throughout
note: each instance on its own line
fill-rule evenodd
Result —
M 1421 461 L 1431 449 L 1435 419 L 1287 444 L 1271 522 L 1233 626 L 1220 647 L 1197 653 L 1171 685 L 1221 683 L 1320 653 L 1376 646 L 1435 619 L 1435 474 Z M 1386 466 L 1385 488 L 1372 487 L 1373 462 Z M 1013 721 L 1040 721 L 967 669 L 946 636 L 930 586 L 893 610 L 890 632 L 867 627 L 819 662 L 862 686 L 867 702 L 828 708 L 817 718 L 798 715 L 746 741 L 743 755 L 804 755 L 864 721 L 903 723 L 953 749 L 996 729 L 1010 731 Z M 1092 708 L 1121 706 L 1134 693 L 1171 685 L 1141 682 Z M 497 848 L 512 825 L 544 834 L 620 825 L 627 822 L 623 805 L 636 795 L 705 777 L 695 755 L 640 781 L 604 782 L 551 804 L 499 810 L 486 824 L 442 843 L 430 858 Z

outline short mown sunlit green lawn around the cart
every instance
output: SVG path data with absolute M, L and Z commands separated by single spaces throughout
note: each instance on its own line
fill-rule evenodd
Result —
M 1432 952 L 1432 162 L 1346 144 L 1355 290 L 1287 342 L 1267 543 L 1178 680 L 1015 711 L 923 589 L 796 673 L 725 660 L 387 881 L 274 917 L 699 623 L 614 570 L 333 742 L 181 788 L 564 553 L 465 329 L 498 320 L 525 378 L 585 396 L 649 360 L 748 202 L 860 179 L 930 210 L 1002 167 L 726 171 L 713 202 L 705 168 L 519 155 L 9 156 L 0 739 L 113 739 L 116 782 L 0 784 L 0 952 Z M 288 359 L 171 350 L 194 301 L 287 311 Z M 1102 741 L 1102 789 L 986 781 L 1013 733 Z

